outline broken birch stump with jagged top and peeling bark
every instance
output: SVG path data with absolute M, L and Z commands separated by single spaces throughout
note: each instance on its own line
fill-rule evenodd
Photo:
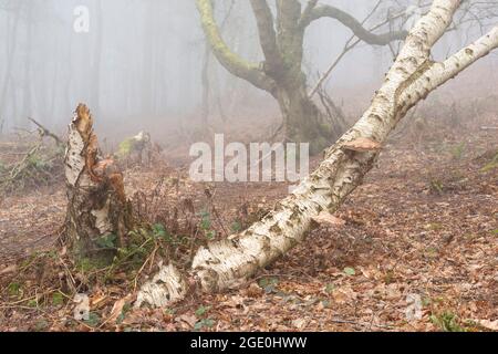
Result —
M 76 259 L 108 261 L 125 243 L 131 206 L 123 175 L 100 156 L 90 110 L 80 104 L 69 126 L 64 158 L 68 211 L 62 241 Z

